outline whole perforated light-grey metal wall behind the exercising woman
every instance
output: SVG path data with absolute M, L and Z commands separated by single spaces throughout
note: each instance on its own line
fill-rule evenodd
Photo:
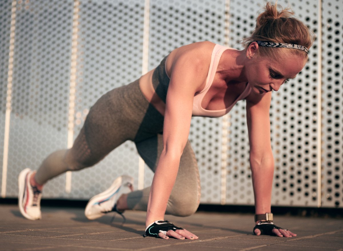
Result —
M 17 176 L 22 169 L 37 169 L 49 153 L 67 147 L 73 60 L 76 59 L 72 130 L 75 138 L 88 110 L 101 95 L 140 77 L 144 20 L 144 0 L 80 1 L 77 15 L 72 0 L 1 1 L 0 163 L 8 98 L 12 2 L 15 2 L 15 23 L 12 23 L 15 36 L 8 197 L 17 195 Z M 318 1 L 282 0 L 278 3 L 283 6 L 289 4 L 296 15 L 317 36 L 320 35 Z M 263 3 L 255 0 L 150 0 L 148 70 L 155 68 L 171 50 L 182 45 L 203 40 L 224 45 L 227 39 L 225 32 L 229 34 L 227 46 L 241 49 L 237 41 L 249 35 L 255 27 L 259 4 Z M 228 5 L 229 22 L 225 23 Z M 279 92 L 273 93 L 270 110 L 275 157 L 273 205 L 343 205 L 340 96 L 343 88 L 343 1 L 323 0 L 322 8 L 322 55 L 317 39 L 310 49 L 309 62 L 304 70 L 296 79 L 285 83 Z M 77 32 L 73 37 L 75 24 Z M 225 30 L 225 26 L 228 29 Z M 77 52 L 72 58 L 75 45 Z M 320 69 L 321 117 L 318 114 Z M 222 118 L 192 119 L 189 138 L 198 159 L 201 203 L 254 203 L 245 105 L 244 100 L 239 101 L 224 123 Z M 321 124 L 318 125 L 320 119 Z M 318 141 L 320 128 L 321 142 Z M 222 147 L 222 143 L 225 144 L 222 135 L 226 133 L 227 151 Z M 322 149 L 321 174 L 318 172 L 318 147 Z M 222 149 L 225 149 L 223 153 Z M 224 170 L 221 169 L 222 163 Z M 73 172 L 70 193 L 64 192 L 65 175 L 48 182 L 44 197 L 89 199 L 122 174 L 133 176 L 134 187 L 137 188 L 138 154 L 132 142 L 118 147 L 95 167 Z M 223 174 L 226 178 L 224 186 L 221 183 Z M 144 187 L 150 186 L 152 177 L 150 169 L 145 167 Z M 222 191 L 224 196 L 221 196 Z M 320 197 L 322 202 L 318 201 Z

